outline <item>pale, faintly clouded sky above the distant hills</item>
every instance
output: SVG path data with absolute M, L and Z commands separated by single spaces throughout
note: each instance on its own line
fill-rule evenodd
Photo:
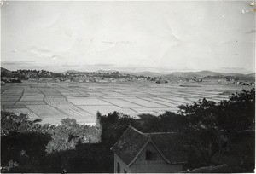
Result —
M 255 72 L 251 1 L 9 1 L 1 67 Z

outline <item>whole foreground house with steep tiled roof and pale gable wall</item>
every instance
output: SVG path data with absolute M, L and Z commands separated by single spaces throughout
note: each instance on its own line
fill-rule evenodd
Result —
M 186 170 L 186 139 L 177 132 L 143 133 L 129 126 L 112 148 L 115 173 L 171 173 Z

